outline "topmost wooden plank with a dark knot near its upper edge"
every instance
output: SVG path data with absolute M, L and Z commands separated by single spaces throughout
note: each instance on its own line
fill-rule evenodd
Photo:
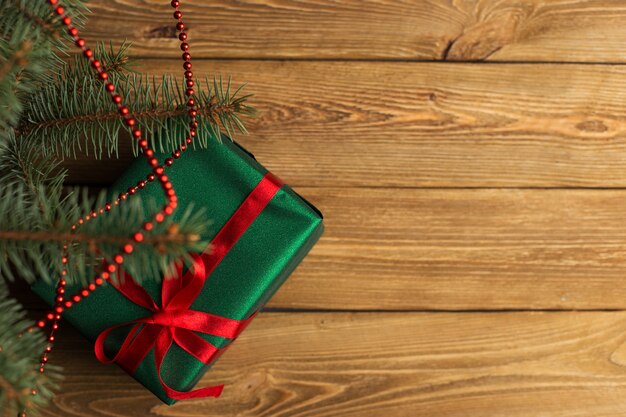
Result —
M 167 2 L 90 2 L 87 39 L 179 55 Z M 624 62 L 621 0 L 245 0 L 182 5 L 196 57 Z M 112 30 L 114 29 L 114 30 Z

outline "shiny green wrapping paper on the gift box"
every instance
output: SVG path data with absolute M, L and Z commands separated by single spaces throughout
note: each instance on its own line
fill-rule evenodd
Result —
M 113 190 L 126 190 L 149 171 L 143 158 L 138 158 Z M 251 154 L 228 139 L 222 144 L 212 141 L 206 150 L 185 152 L 167 171 L 180 208 L 173 218 L 176 220 L 177 213 L 181 213 L 187 204 L 205 207 L 212 220 L 211 235 L 205 237 L 211 240 L 266 173 L 267 170 Z M 139 195 L 141 198 L 156 197 L 157 201 L 163 199 L 156 183 L 147 186 Z M 322 232 L 321 213 L 283 185 L 206 280 L 191 309 L 235 320 L 249 317 L 267 303 Z M 161 283 L 143 282 L 142 286 L 160 305 Z M 79 289 L 79 286 L 68 286 L 67 293 L 73 294 Z M 39 281 L 33 285 L 33 290 L 53 304 L 55 288 L 52 285 Z M 110 285 L 99 288 L 64 313 L 64 317 L 92 342 L 109 327 L 148 315 L 148 310 L 134 304 Z M 128 334 L 128 329 L 121 330 L 113 332 L 106 340 L 105 351 L 110 357 L 119 350 Z M 218 348 L 231 342 L 217 336 L 200 336 Z M 165 357 L 161 374 L 170 387 L 188 391 L 209 367 L 174 344 Z M 176 402 L 161 386 L 153 351 L 132 376 L 163 402 Z

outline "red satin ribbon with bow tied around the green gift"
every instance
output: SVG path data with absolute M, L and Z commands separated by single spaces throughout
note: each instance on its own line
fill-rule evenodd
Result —
M 267 173 L 246 197 L 237 211 L 215 236 L 209 248 L 202 254 L 192 254 L 191 268 L 183 274 L 182 263 L 174 266 L 175 273 L 163 279 L 161 306 L 132 277 L 124 273 L 124 279 L 114 287 L 133 303 L 150 310 L 151 315 L 118 324 L 104 330 L 95 343 L 97 358 L 103 363 L 117 362 L 129 373 L 154 348 L 157 375 L 165 393 L 174 400 L 218 397 L 223 385 L 205 387 L 189 392 L 170 388 L 161 377 L 161 365 L 173 343 L 204 364 L 210 364 L 223 352 L 196 334 L 203 333 L 229 339 L 236 338 L 250 323 L 255 314 L 245 320 L 233 320 L 203 311 L 190 310 L 191 304 L 202 291 L 206 279 L 224 259 L 244 232 L 265 209 L 282 186 L 281 181 Z M 112 359 L 104 353 L 104 342 L 109 334 L 120 327 L 132 325 L 122 347 Z

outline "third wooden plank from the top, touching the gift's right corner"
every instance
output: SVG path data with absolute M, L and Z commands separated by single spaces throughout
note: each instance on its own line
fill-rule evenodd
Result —
M 326 233 L 271 308 L 626 307 L 626 190 L 298 191 Z

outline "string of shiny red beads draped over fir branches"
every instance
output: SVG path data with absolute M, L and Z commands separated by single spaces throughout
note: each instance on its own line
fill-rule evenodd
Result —
M 189 136 L 185 138 L 185 141 L 180 144 L 171 154 L 170 157 L 166 158 L 162 165 L 159 164 L 158 159 L 154 156 L 154 150 L 148 144 L 147 139 L 144 137 L 141 129 L 138 127 L 137 121 L 132 117 L 130 110 L 123 103 L 123 98 L 115 91 L 115 85 L 113 82 L 109 80 L 107 72 L 103 69 L 102 63 L 96 59 L 93 55 L 93 51 L 87 47 L 87 44 L 83 38 L 81 38 L 78 34 L 78 29 L 72 26 L 72 19 L 67 15 L 65 9 L 59 5 L 59 0 L 47 0 L 48 4 L 52 7 L 55 14 L 59 16 L 61 22 L 67 28 L 67 32 L 74 39 L 75 45 L 82 50 L 82 55 L 89 61 L 91 67 L 98 73 L 98 77 L 103 81 L 104 87 L 106 91 L 109 93 L 113 103 L 117 105 L 118 112 L 120 116 L 123 118 L 126 126 L 132 129 L 133 138 L 138 141 L 139 148 L 142 151 L 142 154 L 146 157 L 148 164 L 153 168 L 152 172 L 149 173 L 145 179 L 142 179 L 137 182 L 136 185 L 128 188 L 126 192 L 122 192 L 118 195 L 117 199 L 113 201 L 113 204 L 107 202 L 104 207 L 91 211 L 89 214 L 80 218 L 75 224 L 72 225 L 72 231 L 76 231 L 80 228 L 81 225 L 85 224 L 85 222 L 90 221 L 96 218 L 98 215 L 104 215 L 113 209 L 114 206 L 121 204 L 128 197 L 135 195 L 138 191 L 142 190 L 148 183 L 153 182 L 155 179 L 158 179 L 161 188 L 166 196 L 168 202 L 162 207 L 162 209 L 157 212 L 152 219 L 145 222 L 142 226 L 142 230 L 135 232 L 132 237 L 130 237 L 121 248 L 120 253 L 116 254 L 113 257 L 113 263 L 107 265 L 106 269 L 101 271 L 98 275 L 96 275 L 93 281 L 82 288 L 76 294 L 71 297 L 65 298 L 66 292 L 66 275 L 67 275 L 67 263 L 68 263 L 68 246 L 64 244 L 63 253 L 61 262 L 63 264 L 61 270 L 61 277 L 57 283 L 56 287 L 56 298 L 55 304 L 49 313 L 47 313 L 42 320 L 37 322 L 37 327 L 44 328 L 47 323 L 51 323 L 50 330 L 48 332 L 47 344 L 45 350 L 41 356 L 41 362 L 39 364 L 39 372 L 45 372 L 45 366 L 48 363 L 48 355 L 52 351 L 52 345 L 55 341 L 55 331 L 59 328 L 59 321 L 61 320 L 61 314 L 71 308 L 76 303 L 79 303 L 85 297 L 88 297 L 89 294 L 95 291 L 99 286 L 103 285 L 104 282 L 108 281 L 111 277 L 111 274 L 115 273 L 117 269 L 124 263 L 124 255 L 131 254 L 134 250 L 134 246 L 137 243 L 140 243 L 144 239 L 144 232 L 150 232 L 154 228 L 155 223 L 161 223 L 165 220 L 166 216 L 171 215 L 176 209 L 178 204 L 178 198 L 176 196 L 176 192 L 172 183 L 169 181 L 167 175 L 165 175 L 165 167 L 169 167 L 174 163 L 175 159 L 178 159 L 182 152 L 187 149 L 187 146 L 190 145 L 193 141 L 193 137 L 197 135 L 197 127 L 198 122 L 196 121 L 196 116 L 198 115 L 194 96 L 194 80 L 193 73 L 191 72 L 191 54 L 189 53 L 189 44 L 187 41 L 187 33 L 185 30 L 185 24 L 182 20 L 182 12 L 179 10 L 180 1 L 172 0 L 171 6 L 175 9 L 173 16 L 174 19 L 177 20 L 176 30 L 178 33 L 178 39 L 180 40 L 180 49 L 183 51 L 182 59 L 183 59 L 183 69 L 185 76 L 185 95 L 188 97 L 187 99 L 187 108 L 188 115 L 190 117 L 189 123 Z M 32 328 L 29 329 L 32 331 Z M 32 395 L 37 395 L 37 391 L 33 388 L 31 390 Z M 22 411 L 19 414 L 19 417 L 26 417 L 26 410 Z

